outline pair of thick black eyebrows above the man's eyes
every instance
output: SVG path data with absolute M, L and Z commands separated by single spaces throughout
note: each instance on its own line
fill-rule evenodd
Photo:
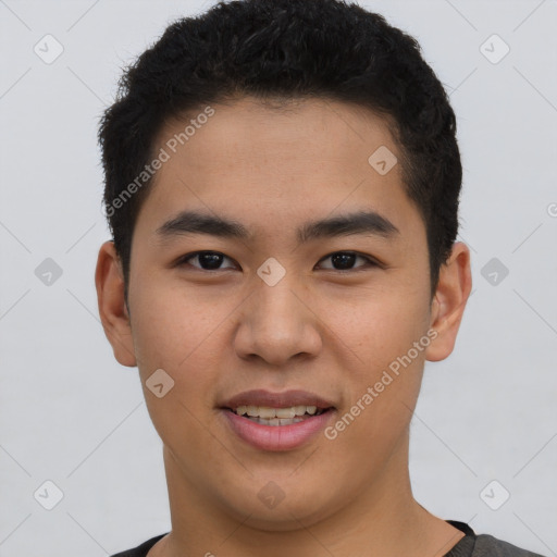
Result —
M 246 240 L 252 238 L 248 228 L 237 221 L 197 211 L 183 211 L 156 231 L 156 235 L 161 240 L 188 234 L 207 234 Z M 298 228 L 296 238 L 298 244 L 304 244 L 318 238 L 354 234 L 391 237 L 399 234 L 399 230 L 375 211 L 359 211 L 306 223 Z

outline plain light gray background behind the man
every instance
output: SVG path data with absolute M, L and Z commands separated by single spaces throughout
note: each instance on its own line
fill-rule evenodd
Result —
M 454 355 L 426 367 L 416 496 L 557 555 L 557 3 L 361 4 L 421 42 L 450 92 L 465 168 L 474 289 Z M 208 5 L 0 0 L 1 557 L 101 557 L 169 529 L 137 370 L 113 359 L 98 320 L 94 271 L 110 236 L 96 133 L 120 67 Z M 47 34 L 64 48 L 51 64 L 34 52 Z M 510 47 L 496 64 L 480 50 L 493 34 Z M 63 271 L 50 286 L 35 274 L 46 258 Z M 492 258 L 509 270 L 497 285 L 481 274 Z M 63 492 L 52 510 L 34 498 L 46 480 Z M 498 510 L 485 502 L 502 487 L 480 496 L 493 480 L 510 493 Z

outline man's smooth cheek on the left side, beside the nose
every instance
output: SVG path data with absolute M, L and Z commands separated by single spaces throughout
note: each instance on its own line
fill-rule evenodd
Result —
M 208 438 L 196 417 L 207 413 L 210 405 L 218 346 L 224 342 L 218 324 L 226 315 L 225 308 L 205 307 L 186 297 L 184 289 L 156 288 L 152 282 L 137 282 L 133 296 L 132 334 L 152 423 L 173 450 L 186 444 L 203 451 Z M 157 380 L 163 383 L 161 397 L 149 386 L 156 384 L 151 376 L 161 376 L 160 372 L 153 375 L 160 369 L 170 376 Z

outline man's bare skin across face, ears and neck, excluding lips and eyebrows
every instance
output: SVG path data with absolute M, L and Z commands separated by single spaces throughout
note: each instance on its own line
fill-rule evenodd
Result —
M 463 534 L 413 499 L 408 430 L 424 361 L 454 348 L 471 288 L 468 248 L 455 244 L 432 297 L 425 227 L 400 165 L 380 175 L 368 163 L 380 146 L 400 160 L 384 119 L 325 100 L 281 110 L 245 97 L 213 108 L 158 171 L 139 212 L 128 308 L 112 242 L 98 257 L 107 337 L 121 364 L 138 367 L 163 441 L 172 532 L 149 557 L 444 555 Z M 156 151 L 184 125 L 169 121 Z M 297 245 L 306 222 L 362 208 L 398 234 Z M 252 237 L 159 238 L 184 209 L 234 219 Z M 199 250 L 226 256 L 224 269 L 203 270 L 198 258 L 176 264 Z M 329 256 L 338 251 L 381 264 L 358 258 L 335 270 Z M 286 272 L 274 286 L 257 274 L 270 257 Z M 431 330 L 430 346 L 334 441 L 260 450 L 216 408 L 251 388 L 299 388 L 334 401 L 334 424 Z M 175 382 L 162 398 L 145 386 L 159 368 Z M 284 493 L 272 509 L 258 498 L 270 481 Z

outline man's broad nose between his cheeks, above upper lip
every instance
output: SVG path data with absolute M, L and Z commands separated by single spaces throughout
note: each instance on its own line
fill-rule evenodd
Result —
M 322 336 L 308 290 L 287 276 L 274 286 L 256 280 L 255 292 L 239 311 L 234 343 L 240 358 L 278 367 L 294 357 L 319 354 Z

